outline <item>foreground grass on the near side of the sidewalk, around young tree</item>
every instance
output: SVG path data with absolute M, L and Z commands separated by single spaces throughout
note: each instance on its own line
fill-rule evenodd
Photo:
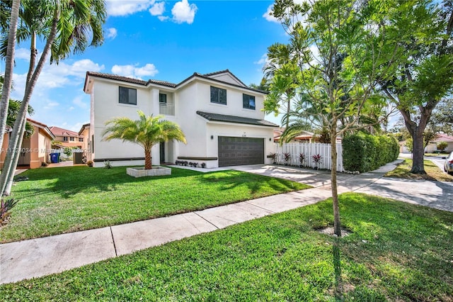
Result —
M 453 213 L 340 195 L 62 274 L 0 286 L 6 301 L 452 301 Z M 8 272 L 2 272 L 7 274 Z

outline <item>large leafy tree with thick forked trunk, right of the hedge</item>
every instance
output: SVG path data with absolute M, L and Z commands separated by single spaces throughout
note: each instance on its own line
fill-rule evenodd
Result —
M 423 133 L 432 111 L 453 87 L 453 2 L 386 1 L 383 11 L 383 47 L 399 45 L 405 55 L 380 87 L 413 138 L 411 172 L 425 174 Z

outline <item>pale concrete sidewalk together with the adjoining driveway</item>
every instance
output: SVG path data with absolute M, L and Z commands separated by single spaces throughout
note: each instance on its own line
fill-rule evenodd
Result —
M 359 175 L 338 174 L 338 191 L 358 191 L 453 211 L 453 184 L 382 178 L 396 162 Z M 331 196 L 330 172 L 282 166 L 242 166 L 241 171 L 314 186 L 203 211 L 113 225 L 0 245 L 0 284 L 63 272 L 184 237 L 322 201 Z M 410 196 L 408 196 L 408 194 Z

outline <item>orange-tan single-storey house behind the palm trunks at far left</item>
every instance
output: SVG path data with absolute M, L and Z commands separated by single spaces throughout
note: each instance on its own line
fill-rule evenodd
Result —
M 47 125 L 38 121 L 27 118 L 28 123 L 33 125 L 33 135 L 30 138 L 23 138 L 21 155 L 19 156 L 18 166 L 28 166 L 30 169 L 39 168 L 43 162 L 50 162 L 50 152 L 52 140 L 55 139 L 52 131 Z M 8 130 L 4 136 L 3 147 L 0 150 L 0 168 L 3 168 L 8 141 L 11 130 Z

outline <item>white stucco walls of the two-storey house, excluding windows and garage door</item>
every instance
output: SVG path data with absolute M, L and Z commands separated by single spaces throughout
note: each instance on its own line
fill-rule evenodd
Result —
M 236 79 L 228 74 L 219 74 L 217 79 L 224 82 L 239 84 Z M 93 81 L 93 82 L 91 82 Z M 102 133 L 105 122 L 111 118 L 127 117 L 137 119 L 137 110 L 143 111 L 147 116 L 159 114 L 159 91 L 167 94 L 167 104 L 175 104 L 175 116 L 166 116 L 168 121 L 178 123 L 185 133 L 187 144 L 182 142 L 167 142 L 165 145 L 166 162 L 175 162 L 178 157 L 217 157 L 217 138 L 219 136 L 234 136 L 247 138 L 264 138 L 265 155 L 273 150 L 273 128 L 244 124 L 229 124 L 208 122 L 198 116 L 196 111 L 219 113 L 245 118 L 264 119 L 264 97 L 255 91 L 241 89 L 236 86 L 224 85 L 210 79 L 191 79 L 177 89 L 164 89 L 151 84 L 142 86 L 119 82 L 112 79 L 93 77 L 91 86 L 91 118 L 90 138 L 94 135 L 94 159 L 124 158 L 124 161 L 112 162 L 114 166 L 131 164 L 127 157 L 144 157 L 142 147 L 122 140 L 103 141 Z M 118 87 L 125 86 L 137 89 L 137 105 L 119 103 Z M 210 101 L 210 86 L 226 89 L 226 105 L 214 104 Z M 256 109 L 243 108 L 243 94 L 255 96 Z M 213 139 L 211 139 L 211 136 Z M 160 163 L 159 145 L 153 147 L 153 164 Z M 265 162 L 266 159 L 265 159 Z M 132 164 L 142 164 L 134 162 Z M 211 163 L 212 164 L 212 163 Z M 103 167 L 103 162 L 95 162 L 95 167 Z

